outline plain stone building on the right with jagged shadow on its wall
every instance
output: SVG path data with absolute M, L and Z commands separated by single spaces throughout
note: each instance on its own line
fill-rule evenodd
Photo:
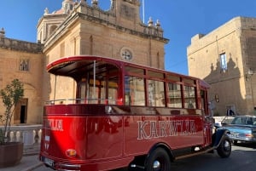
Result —
M 189 75 L 211 85 L 213 111 L 255 114 L 256 19 L 236 17 L 207 35 L 195 35 L 187 49 Z

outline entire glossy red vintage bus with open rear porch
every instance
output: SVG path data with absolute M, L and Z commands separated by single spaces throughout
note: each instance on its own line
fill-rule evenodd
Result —
M 74 99 L 44 106 L 39 158 L 50 168 L 169 171 L 203 152 L 230 156 L 226 131 L 212 134 L 209 86 L 198 78 L 99 56 L 61 58 L 47 71 L 76 85 Z

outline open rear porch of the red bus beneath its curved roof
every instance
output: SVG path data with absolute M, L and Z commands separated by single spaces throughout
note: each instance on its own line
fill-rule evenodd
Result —
M 49 71 L 59 76 L 73 77 L 77 83 L 76 103 L 117 104 L 119 97 L 119 68 L 93 59 L 73 62 L 62 61 L 49 66 Z

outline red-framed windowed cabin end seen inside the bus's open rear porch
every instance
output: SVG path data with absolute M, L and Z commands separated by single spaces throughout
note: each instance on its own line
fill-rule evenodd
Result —
M 80 103 L 117 104 L 119 73 L 112 66 L 101 66 L 101 70 L 96 68 L 95 76 L 88 71 L 78 85 L 77 98 Z

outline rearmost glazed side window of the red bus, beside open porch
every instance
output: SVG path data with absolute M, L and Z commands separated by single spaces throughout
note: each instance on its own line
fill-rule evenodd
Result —
M 145 105 L 144 79 L 125 76 L 125 105 Z

